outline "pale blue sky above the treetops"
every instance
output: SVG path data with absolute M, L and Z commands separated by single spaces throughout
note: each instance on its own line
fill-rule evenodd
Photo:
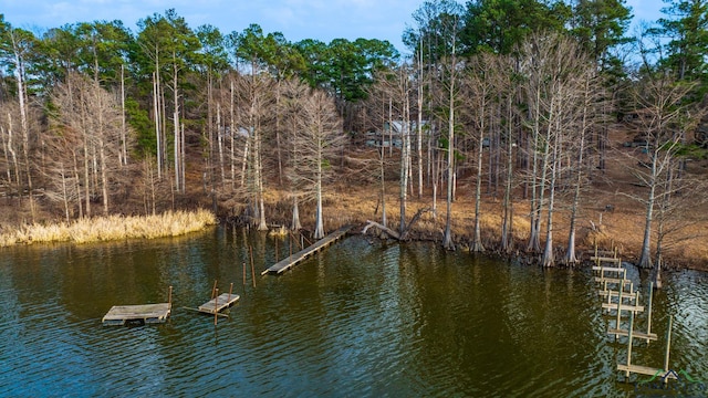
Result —
M 282 32 L 296 42 L 358 38 L 389 41 L 407 53 L 400 36 L 424 0 L 0 0 L 6 22 L 41 33 L 66 23 L 121 20 L 136 23 L 174 8 L 190 28 L 211 24 L 221 33 L 241 32 L 258 23 L 263 33 Z M 464 3 L 464 1 L 460 1 Z M 638 20 L 660 17 L 662 0 L 626 0 Z M 634 24 L 633 23 L 633 24 Z M 632 33 L 632 29 L 628 33 Z

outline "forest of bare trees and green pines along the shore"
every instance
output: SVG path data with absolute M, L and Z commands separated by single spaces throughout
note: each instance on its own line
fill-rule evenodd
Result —
M 706 172 L 688 169 L 708 142 L 708 1 L 664 1 L 628 32 L 623 0 L 429 0 L 402 32 L 407 55 L 377 39 L 191 28 L 174 9 L 135 32 L 31 32 L 0 14 L 0 223 L 207 207 L 317 239 L 337 227 L 333 187 L 356 187 L 377 198 L 358 221 L 395 239 L 439 216 L 447 249 L 457 226 L 471 252 L 554 266 L 600 228 L 583 209 L 605 184 L 642 212 L 636 261 L 658 269 L 678 241 L 705 240 L 685 229 L 705 221 L 691 210 Z M 617 130 L 633 150 L 615 150 Z M 615 161 L 631 180 L 612 180 Z

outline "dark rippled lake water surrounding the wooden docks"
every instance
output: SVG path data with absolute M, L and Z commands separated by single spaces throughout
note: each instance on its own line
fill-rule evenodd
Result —
M 178 239 L 0 251 L 0 396 L 558 397 L 633 396 L 615 370 L 586 270 L 540 270 L 429 243 L 351 237 L 282 276 L 243 285 L 288 251 L 264 234 L 216 228 Z M 631 277 L 645 293 L 646 275 Z M 659 341 L 633 363 L 708 379 L 708 275 L 666 275 Z M 214 281 L 241 301 L 229 318 L 183 307 Z M 167 300 L 168 323 L 104 327 L 112 305 Z M 646 294 L 643 297 L 646 301 Z M 637 328 L 646 326 L 639 315 Z M 642 378 L 638 380 L 643 380 Z M 636 381 L 632 378 L 631 381 Z

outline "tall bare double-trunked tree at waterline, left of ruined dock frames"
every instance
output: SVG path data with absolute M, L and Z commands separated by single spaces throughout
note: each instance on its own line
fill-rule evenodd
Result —
M 585 73 L 591 64 L 579 45 L 559 33 L 533 34 L 523 44 L 521 72 L 529 105 L 527 125 L 532 134 L 531 230 L 528 250 L 540 251 L 542 211 L 546 233 L 542 263 L 552 266 L 553 214 L 564 148 L 577 129 L 585 98 Z M 548 197 L 546 197 L 548 196 Z

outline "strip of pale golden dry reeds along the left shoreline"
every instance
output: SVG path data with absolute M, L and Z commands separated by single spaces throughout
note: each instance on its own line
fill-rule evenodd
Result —
M 122 239 L 176 237 L 217 223 L 208 210 L 169 211 L 157 216 L 108 216 L 72 223 L 22 226 L 0 234 L 0 247 L 38 242 L 87 243 Z

